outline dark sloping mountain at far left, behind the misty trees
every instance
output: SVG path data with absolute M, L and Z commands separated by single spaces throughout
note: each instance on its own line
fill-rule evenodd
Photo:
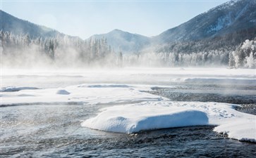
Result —
M 0 10 L 0 16 L 1 16 L 0 30 L 4 32 L 11 32 L 12 34 L 15 34 L 15 35 L 28 34 L 32 38 L 56 37 L 57 35 L 61 37 L 65 36 L 65 34 L 62 34 L 61 32 L 58 32 L 54 29 L 36 25 L 26 20 L 21 20 L 1 10 Z

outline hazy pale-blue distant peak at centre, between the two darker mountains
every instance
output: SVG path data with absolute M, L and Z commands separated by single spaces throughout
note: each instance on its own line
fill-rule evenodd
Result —
M 150 38 L 142 36 L 140 34 L 131 34 L 129 32 L 123 32 L 120 29 L 114 29 L 106 34 L 95 34 L 89 39 L 102 39 L 106 38 L 108 44 L 114 48 L 115 51 L 123 53 L 136 53 L 142 48 L 150 45 Z

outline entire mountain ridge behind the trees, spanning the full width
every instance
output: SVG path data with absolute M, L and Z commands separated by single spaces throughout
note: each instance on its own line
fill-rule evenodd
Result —
M 1 17 L 3 17 L 1 18 L 1 30 L 10 31 L 14 34 L 28 33 L 30 37 L 72 37 L 48 27 L 21 20 L 4 11 L 0 13 Z M 256 1 L 232 0 L 211 8 L 209 11 L 197 15 L 177 27 L 167 29 L 154 37 L 146 37 L 125 32 L 121 29 L 114 29 L 106 34 L 94 34 L 89 39 L 85 39 L 85 41 L 104 37 L 111 48 L 123 53 L 140 53 L 145 48 L 184 41 L 205 40 L 211 43 L 218 38 L 221 38 L 223 42 L 228 42 L 224 41 L 224 39 L 236 41 L 232 43 L 233 46 L 240 44 L 245 38 L 252 39 L 256 37 L 255 26 Z M 244 34 L 249 35 L 245 36 Z M 80 39 L 80 37 L 75 38 Z M 217 49 L 221 46 L 222 44 L 218 45 Z M 170 48 L 168 50 L 171 51 Z

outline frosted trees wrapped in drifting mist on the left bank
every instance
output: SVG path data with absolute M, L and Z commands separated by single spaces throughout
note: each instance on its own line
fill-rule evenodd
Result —
M 106 38 L 84 41 L 76 37 L 30 38 L 0 31 L 1 62 L 4 66 L 120 66 Z

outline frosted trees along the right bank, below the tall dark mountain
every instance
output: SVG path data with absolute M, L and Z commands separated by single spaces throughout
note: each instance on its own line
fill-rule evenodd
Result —
M 182 49 L 182 51 L 181 51 Z M 214 50 L 190 51 L 189 47 L 176 45 L 169 50 L 147 50 L 145 53 L 124 55 L 126 65 L 157 67 L 226 66 L 230 68 L 256 68 L 256 38 L 245 40 L 238 46 Z

